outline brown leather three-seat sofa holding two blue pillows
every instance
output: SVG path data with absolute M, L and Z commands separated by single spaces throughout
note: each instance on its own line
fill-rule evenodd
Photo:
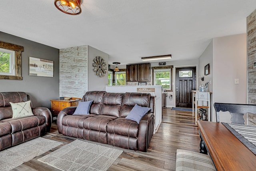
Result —
M 59 133 L 70 137 L 146 152 L 154 132 L 154 96 L 150 93 L 88 91 L 82 101 L 93 100 L 88 115 L 72 115 L 76 107 L 58 114 Z M 134 105 L 150 107 L 139 124 L 126 119 Z

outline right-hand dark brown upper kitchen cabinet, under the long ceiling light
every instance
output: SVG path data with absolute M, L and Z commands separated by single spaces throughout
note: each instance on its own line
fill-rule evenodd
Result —
M 138 64 L 138 82 L 150 82 L 150 63 Z

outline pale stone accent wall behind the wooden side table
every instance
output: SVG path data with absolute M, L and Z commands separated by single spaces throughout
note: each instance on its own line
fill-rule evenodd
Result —
M 87 45 L 60 49 L 60 97 L 80 97 L 88 91 Z

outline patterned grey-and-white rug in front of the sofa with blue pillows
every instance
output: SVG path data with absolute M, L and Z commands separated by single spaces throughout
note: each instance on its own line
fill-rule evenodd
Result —
M 77 139 L 38 161 L 63 171 L 106 171 L 122 152 Z

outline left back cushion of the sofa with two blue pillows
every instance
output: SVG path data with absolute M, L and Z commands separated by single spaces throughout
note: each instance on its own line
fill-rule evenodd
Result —
M 82 101 L 90 101 L 93 100 L 93 103 L 91 105 L 90 114 L 100 114 L 100 107 L 102 105 L 103 96 L 106 93 L 106 91 L 87 91 L 84 94 L 84 97 L 82 98 Z

